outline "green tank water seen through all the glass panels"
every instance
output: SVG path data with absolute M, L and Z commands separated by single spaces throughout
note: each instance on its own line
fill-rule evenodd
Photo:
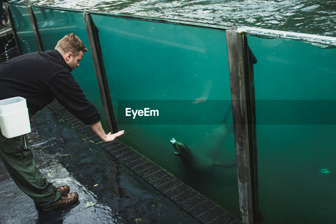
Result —
M 75 32 L 88 47 L 82 13 L 50 12 L 34 7 L 33 10 L 45 50 L 53 49 L 57 41 L 70 32 Z M 29 22 L 24 7 L 12 13 L 17 20 L 22 20 L 22 15 Z M 92 18 L 99 30 L 115 112 L 118 100 L 160 100 L 162 104 L 165 100 L 191 103 L 199 100 L 201 108 L 211 100 L 222 100 L 223 104 L 213 106 L 199 119 L 224 118 L 223 108 L 229 107 L 225 102 L 231 99 L 224 30 L 104 15 L 92 15 Z M 54 24 L 45 25 L 45 21 L 54 21 Z M 19 38 L 24 52 L 35 51 L 31 28 L 22 25 L 17 30 L 21 32 Z M 279 114 L 297 114 L 295 110 L 313 111 L 319 107 L 302 100 L 328 100 L 328 110 L 336 109 L 333 104 L 336 49 L 322 49 L 295 40 L 251 36 L 247 40 L 258 60 L 254 77 L 259 206 L 264 223 L 335 223 L 332 215 L 336 201 L 335 121 L 330 118 L 330 124 L 312 125 L 318 119 L 316 116 L 307 117 L 303 119 L 305 123 L 298 125 L 300 122 L 288 123 Z M 103 115 L 90 54 L 89 50 L 73 75 Z M 272 114 L 263 100 L 274 101 L 274 104 L 281 100 L 277 117 L 264 118 L 265 114 L 270 117 Z M 291 103 L 286 106 L 283 102 L 288 100 L 297 100 L 298 107 L 293 109 Z M 174 114 L 181 108 L 170 106 L 167 110 Z M 121 115 L 116 113 L 115 116 Z M 236 167 L 214 166 L 194 175 L 174 155 L 170 143 L 174 138 L 196 154 L 204 155 L 202 158 L 206 161 L 214 150 L 214 143 L 223 140 L 218 131 L 222 130 L 222 124 L 187 125 L 183 119 L 181 116 L 175 124 L 163 125 L 119 123 L 118 128 L 125 129 L 120 139 L 239 218 Z M 328 117 L 324 117 L 325 120 Z M 225 123 L 232 123 L 232 114 Z M 216 159 L 221 163 L 235 161 L 234 136 L 231 133 L 225 137 Z M 321 178 L 318 171 L 325 167 L 330 169 L 330 177 Z

